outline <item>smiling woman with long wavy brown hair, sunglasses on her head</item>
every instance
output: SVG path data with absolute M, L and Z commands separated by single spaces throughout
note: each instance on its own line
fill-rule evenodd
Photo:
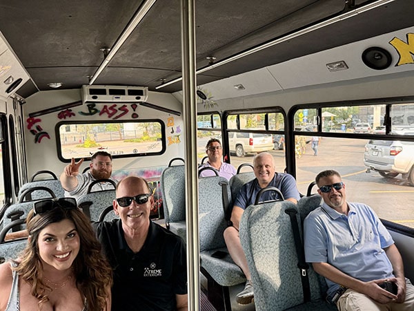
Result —
M 112 270 L 76 200 L 35 202 L 26 221 L 26 249 L 0 265 L 0 310 L 110 310 Z

